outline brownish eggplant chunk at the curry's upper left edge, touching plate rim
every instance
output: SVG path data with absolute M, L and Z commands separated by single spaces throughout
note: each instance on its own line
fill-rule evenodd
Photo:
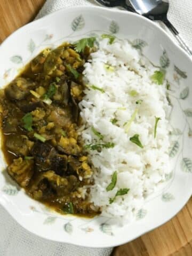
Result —
M 30 93 L 34 85 L 35 83 L 29 79 L 17 77 L 5 88 L 6 97 L 10 100 L 22 100 Z

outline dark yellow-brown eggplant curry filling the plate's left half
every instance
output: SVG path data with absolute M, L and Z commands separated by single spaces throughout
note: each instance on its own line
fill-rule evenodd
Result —
M 93 48 L 46 49 L 0 92 L 7 172 L 26 193 L 64 213 L 98 212 L 82 193 L 92 169 L 83 148 L 78 102 Z M 87 190 L 89 194 L 89 189 Z

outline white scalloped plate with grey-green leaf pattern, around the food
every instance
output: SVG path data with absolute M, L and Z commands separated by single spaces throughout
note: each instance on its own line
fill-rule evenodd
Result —
M 89 247 L 126 243 L 171 219 L 191 196 L 192 183 L 192 62 L 153 22 L 126 11 L 101 7 L 63 9 L 13 33 L 0 47 L 0 86 L 47 46 L 95 34 L 113 33 L 129 39 L 156 66 L 166 69 L 173 106 L 170 123 L 174 134 L 170 151 L 172 175 L 163 188 L 148 198 L 137 220 L 123 227 L 103 217 L 67 217 L 51 212 L 29 198 L 6 172 L 0 174 L 0 203 L 27 230 L 58 242 Z M 2 170 L 5 167 L 1 154 Z

